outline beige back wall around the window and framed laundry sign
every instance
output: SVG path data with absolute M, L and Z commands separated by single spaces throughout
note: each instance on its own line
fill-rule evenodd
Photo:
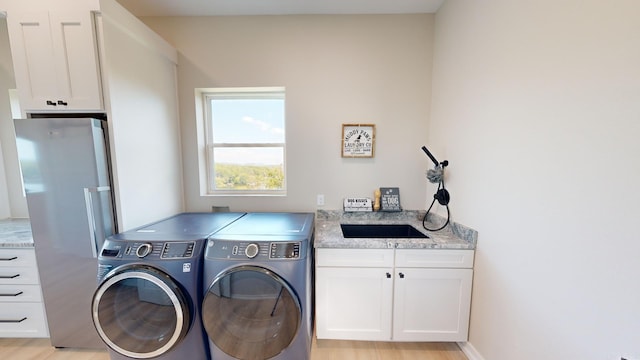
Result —
M 341 209 L 398 186 L 424 209 L 433 15 L 143 18 L 179 53 L 186 208 Z M 288 196 L 201 197 L 194 89 L 285 86 Z M 340 156 L 341 124 L 376 124 L 373 159 Z

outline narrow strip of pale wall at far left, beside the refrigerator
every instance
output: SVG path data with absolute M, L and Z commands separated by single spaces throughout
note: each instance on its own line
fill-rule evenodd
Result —
M 22 179 L 8 93 L 8 89 L 13 89 L 15 86 L 7 21 L 0 17 L 0 157 L 2 157 L 0 159 L 0 219 L 29 217 L 27 200 L 22 193 Z

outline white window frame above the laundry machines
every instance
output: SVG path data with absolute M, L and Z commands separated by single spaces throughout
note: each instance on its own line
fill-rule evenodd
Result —
M 287 132 L 286 132 L 286 94 L 284 87 L 238 87 L 238 88 L 206 88 L 196 89 L 196 98 L 199 99 L 201 109 L 201 121 L 198 129 L 202 132 L 202 150 L 200 159 L 200 192 L 204 196 L 286 196 L 287 194 Z M 282 143 L 224 143 L 215 142 L 212 129 L 212 99 L 282 99 L 285 113 L 284 138 Z M 198 107 L 198 106 L 197 106 Z M 283 183 L 281 189 L 216 189 L 215 187 L 215 157 L 216 148 L 282 148 L 282 172 Z M 203 183 L 204 182 L 204 183 Z

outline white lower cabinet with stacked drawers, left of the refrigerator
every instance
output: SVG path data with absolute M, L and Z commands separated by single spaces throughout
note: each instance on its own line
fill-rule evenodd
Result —
M 48 337 L 34 249 L 0 249 L 0 337 Z

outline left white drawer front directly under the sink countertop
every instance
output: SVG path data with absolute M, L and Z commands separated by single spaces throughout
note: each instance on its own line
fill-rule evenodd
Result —
M 317 266 L 393 266 L 393 249 L 317 249 L 316 251 Z

